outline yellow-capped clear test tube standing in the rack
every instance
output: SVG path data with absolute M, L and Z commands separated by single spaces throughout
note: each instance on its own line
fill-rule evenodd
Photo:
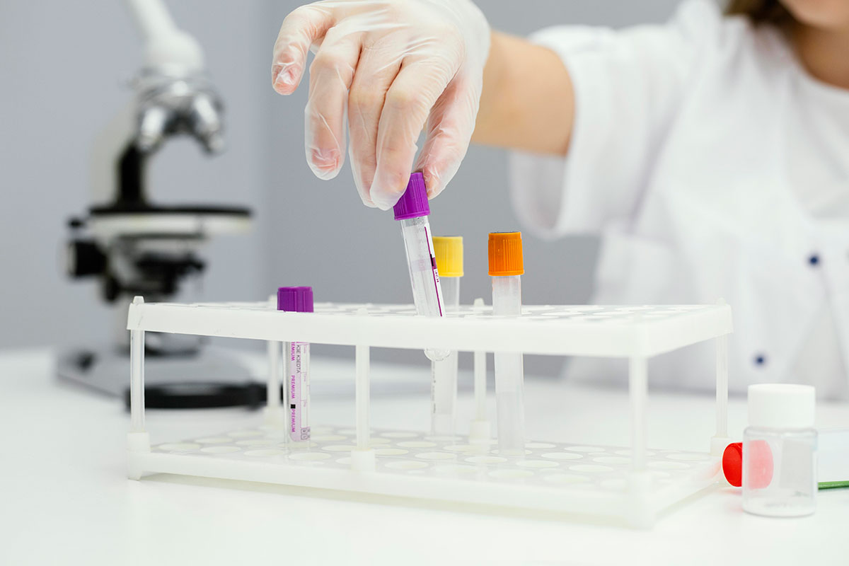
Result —
M 460 277 L 463 277 L 463 238 L 460 236 L 435 236 L 436 269 L 439 272 L 443 300 L 447 312 L 456 312 L 460 306 Z M 457 414 L 457 351 L 447 358 L 430 363 L 430 432 L 453 435 Z

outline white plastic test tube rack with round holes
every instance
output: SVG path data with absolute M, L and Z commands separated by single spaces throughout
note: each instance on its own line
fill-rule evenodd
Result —
M 277 311 L 272 302 L 130 305 L 131 431 L 128 475 L 184 474 L 404 499 L 602 518 L 639 528 L 695 493 L 717 485 L 728 445 L 728 305 L 525 306 L 496 317 L 482 301 L 444 318 L 417 317 L 412 305 L 317 303 L 315 312 Z M 220 435 L 152 445 L 144 425 L 144 333 L 266 340 L 269 399 L 263 423 Z M 704 453 L 646 445 L 647 361 L 706 340 L 717 351 L 717 429 Z M 280 344 L 355 348 L 356 426 L 312 427 L 306 446 L 285 441 L 276 417 Z M 526 443 L 524 456 L 500 455 L 486 427 L 469 436 L 374 430 L 369 425 L 369 348 L 475 352 L 475 396 L 486 395 L 483 352 L 607 356 L 629 360 L 631 446 Z M 481 381 L 483 382 L 481 384 Z M 275 399 L 276 397 L 276 399 Z M 473 423 L 480 425 L 480 422 Z M 708 441 L 706 439 L 706 449 Z

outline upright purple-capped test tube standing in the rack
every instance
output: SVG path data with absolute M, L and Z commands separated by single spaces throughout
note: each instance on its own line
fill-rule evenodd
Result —
M 281 287 L 277 310 L 312 312 L 312 287 Z M 310 440 L 310 345 L 286 342 L 283 347 L 286 375 L 287 428 L 293 443 Z

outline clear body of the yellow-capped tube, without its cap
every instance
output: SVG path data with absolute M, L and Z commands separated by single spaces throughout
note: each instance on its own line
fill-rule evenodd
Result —
M 460 277 L 442 277 L 441 284 L 446 311 L 457 311 Z M 444 360 L 433 361 L 430 371 L 430 432 L 451 436 L 457 415 L 457 351 L 452 351 Z

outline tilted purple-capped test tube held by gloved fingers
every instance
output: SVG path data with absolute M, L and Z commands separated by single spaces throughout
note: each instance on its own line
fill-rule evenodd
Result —
M 395 219 L 401 221 L 416 312 L 422 317 L 444 317 L 445 305 L 428 221 L 430 205 L 421 173 L 410 176 L 407 190 L 396 203 L 394 212 Z M 431 361 L 444 360 L 449 353 L 449 350 L 424 350 Z

